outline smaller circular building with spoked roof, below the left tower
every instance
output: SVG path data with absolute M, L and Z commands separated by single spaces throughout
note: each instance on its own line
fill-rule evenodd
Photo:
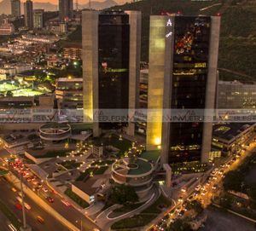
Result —
M 63 141 L 71 136 L 71 127 L 69 124 L 43 124 L 39 128 L 39 136 L 44 141 Z

